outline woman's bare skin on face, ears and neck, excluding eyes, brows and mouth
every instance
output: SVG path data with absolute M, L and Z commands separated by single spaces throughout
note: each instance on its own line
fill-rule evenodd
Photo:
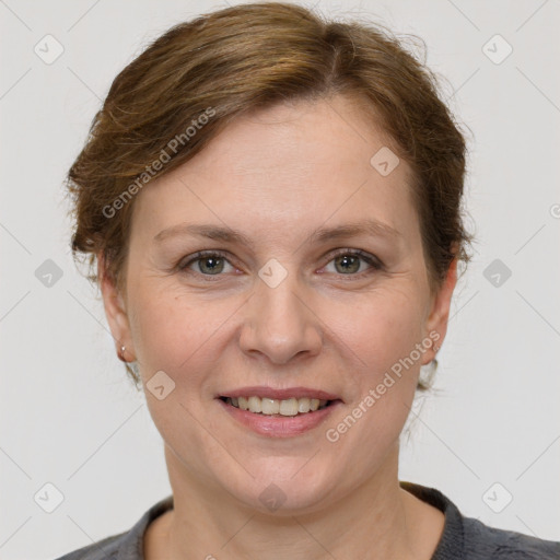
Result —
M 174 494 L 174 510 L 148 528 L 147 559 L 431 558 L 444 517 L 399 488 L 398 442 L 433 349 L 337 442 L 325 436 L 415 345 L 436 332 L 441 346 L 447 328 L 456 262 L 432 293 L 410 168 L 400 160 L 382 176 L 370 164 L 384 145 L 342 96 L 254 112 L 137 195 L 124 293 L 98 255 L 117 348 L 138 360 L 144 388 L 158 371 L 175 383 L 163 400 L 145 390 Z M 368 218 L 400 235 L 308 241 Z M 228 225 L 253 246 L 154 242 L 183 222 Z M 345 268 L 339 248 L 384 266 Z M 226 253 L 217 273 L 208 259 L 176 268 L 203 249 Z M 288 273 L 276 288 L 258 276 L 271 258 Z M 322 388 L 343 404 L 304 434 L 266 438 L 214 399 L 249 385 Z M 259 500 L 270 483 L 285 497 L 275 512 Z

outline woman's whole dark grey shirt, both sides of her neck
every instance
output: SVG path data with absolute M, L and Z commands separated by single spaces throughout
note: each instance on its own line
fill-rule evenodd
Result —
M 443 534 L 431 560 L 560 560 L 560 542 L 513 530 L 497 529 L 472 517 L 434 488 L 400 481 L 400 487 L 445 515 Z M 173 508 L 173 495 L 152 505 L 125 533 L 104 538 L 57 560 L 144 560 L 143 536 L 148 525 Z

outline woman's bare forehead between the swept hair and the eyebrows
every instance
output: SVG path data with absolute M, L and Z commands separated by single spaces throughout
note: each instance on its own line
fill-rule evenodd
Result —
M 410 168 L 389 143 L 343 97 L 254 110 L 147 185 L 135 202 L 132 229 L 141 224 L 153 238 L 170 225 L 205 222 L 285 235 L 373 218 L 413 235 Z M 376 154 L 398 164 L 380 173 L 386 167 L 378 167 Z

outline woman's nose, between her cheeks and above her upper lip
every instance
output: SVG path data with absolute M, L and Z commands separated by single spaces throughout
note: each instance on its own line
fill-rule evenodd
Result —
M 323 345 L 320 319 L 311 307 L 305 287 L 288 273 L 276 287 L 260 278 L 246 304 L 240 347 L 246 354 L 264 354 L 275 364 L 295 357 L 318 354 Z

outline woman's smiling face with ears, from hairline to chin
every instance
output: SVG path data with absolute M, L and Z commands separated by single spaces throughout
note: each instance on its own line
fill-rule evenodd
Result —
M 314 511 L 395 457 L 456 281 L 430 295 L 395 158 L 343 97 L 299 102 L 237 119 L 137 195 L 126 296 L 103 293 L 172 485 Z M 293 416 L 306 398 L 331 402 Z

